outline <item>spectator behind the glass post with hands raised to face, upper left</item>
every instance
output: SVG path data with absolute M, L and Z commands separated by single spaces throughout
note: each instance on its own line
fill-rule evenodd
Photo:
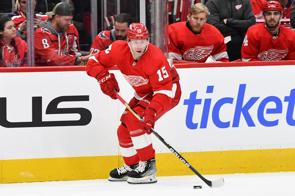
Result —
M 23 40 L 26 40 L 27 37 L 27 21 L 26 21 L 26 2 L 27 0 L 16 0 L 18 2 L 18 11 L 12 12 L 8 14 L 7 16 L 10 17 L 14 23 L 15 28 L 17 29 L 17 36 L 20 36 Z M 36 6 L 36 0 L 33 3 L 34 10 Z M 41 21 L 45 21 L 46 19 L 50 18 L 45 13 L 42 12 L 35 12 L 34 11 L 34 28 L 37 30 L 37 28 L 40 27 Z

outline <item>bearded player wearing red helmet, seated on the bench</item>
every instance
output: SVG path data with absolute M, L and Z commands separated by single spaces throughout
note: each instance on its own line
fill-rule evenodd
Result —
M 280 25 L 283 8 L 268 1 L 263 8 L 265 24 L 251 26 L 242 45 L 242 61 L 295 60 L 295 34 Z

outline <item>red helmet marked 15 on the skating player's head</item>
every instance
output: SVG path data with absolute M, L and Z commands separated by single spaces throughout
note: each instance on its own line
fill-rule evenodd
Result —
M 127 30 L 127 38 L 131 40 L 144 40 L 149 37 L 148 29 L 142 23 L 132 23 Z

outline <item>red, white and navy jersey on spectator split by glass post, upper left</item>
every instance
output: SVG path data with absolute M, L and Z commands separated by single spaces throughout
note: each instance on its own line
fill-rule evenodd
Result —
M 34 12 L 35 13 L 35 18 L 38 19 L 40 22 L 45 21 L 46 19 L 50 18 L 50 16 L 47 16 L 45 13 L 43 12 Z M 8 17 L 10 17 L 14 23 L 15 28 L 17 30 L 20 30 L 20 26 L 22 25 L 22 22 L 24 22 L 26 20 L 25 17 L 22 16 L 21 11 L 18 10 L 17 12 L 12 12 L 10 14 L 7 15 Z M 37 26 L 34 26 L 35 30 L 37 30 Z M 24 31 L 25 35 L 27 36 L 27 31 Z

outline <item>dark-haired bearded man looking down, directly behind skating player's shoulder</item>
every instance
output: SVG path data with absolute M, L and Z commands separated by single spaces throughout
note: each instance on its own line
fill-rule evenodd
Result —
M 121 13 L 116 17 L 115 28 L 110 31 L 100 32 L 94 39 L 90 51 L 90 54 L 96 54 L 101 50 L 108 48 L 116 40 L 127 41 L 127 30 L 132 23 L 132 18 L 127 13 Z

